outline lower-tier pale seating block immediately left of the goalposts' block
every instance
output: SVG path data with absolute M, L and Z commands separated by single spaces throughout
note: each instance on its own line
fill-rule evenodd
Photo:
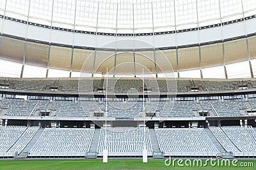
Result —
M 46 128 L 30 152 L 88 152 L 94 129 Z

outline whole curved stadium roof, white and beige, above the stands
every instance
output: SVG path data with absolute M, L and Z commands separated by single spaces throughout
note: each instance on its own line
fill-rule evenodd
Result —
M 253 77 L 255 14 L 255 0 L 0 0 L 0 76 L 92 76 L 118 65 L 113 74 L 133 76 L 142 64 L 175 77 Z M 144 44 L 111 43 L 127 39 Z

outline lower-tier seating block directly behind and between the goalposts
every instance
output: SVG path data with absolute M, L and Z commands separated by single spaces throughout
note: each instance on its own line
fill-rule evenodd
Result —
M 152 152 L 148 127 L 108 127 L 100 129 L 97 152 L 142 152 L 143 146 Z

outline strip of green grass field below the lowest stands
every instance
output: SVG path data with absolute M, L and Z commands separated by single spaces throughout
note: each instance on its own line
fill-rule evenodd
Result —
M 193 160 L 192 160 L 193 161 Z M 204 164 L 205 160 L 203 160 Z M 84 160 L 0 160 L 0 169 L 255 169 L 256 160 L 238 160 L 241 162 L 252 162 L 254 167 L 178 167 L 165 166 L 164 159 L 148 159 L 148 163 L 142 163 L 142 159 L 109 159 L 108 163 L 102 163 L 102 159 Z

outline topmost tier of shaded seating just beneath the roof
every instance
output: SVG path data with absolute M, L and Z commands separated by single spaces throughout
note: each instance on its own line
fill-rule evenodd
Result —
M 127 92 L 142 92 L 143 85 L 147 89 L 151 89 L 152 92 L 188 92 L 189 87 L 202 87 L 200 90 L 209 92 L 220 92 L 225 90 L 236 90 L 237 85 L 241 83 L 241 80 L 182 80 L 175 78 L 145 78 L 144 83 L 140 78 L 108 78 L 108 91 L 115 93 L 127 93 Z M 256 89 L 255 80 L 243 80 L 244 83 L 249 83 L 249 88 Z M 56 78 L 54 79 L 1 79 L 0 83 L 10 85 L 10 89 L 15 90 L 33 90 L 44 91 L 49 90 L 51 86 L 60 87 L 64 92 L 92 92 L 95 89 L 105 89 L 106 79 L 101 78 Z

